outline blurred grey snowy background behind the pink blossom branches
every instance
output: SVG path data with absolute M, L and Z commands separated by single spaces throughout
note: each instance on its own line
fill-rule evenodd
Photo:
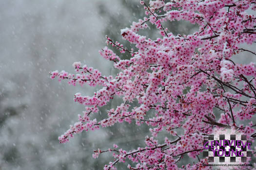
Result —
M 49 78 L 56 69 L 74 72 L 75 61 L 103 75 L 117 74 L 98 54 L 105 35 L 130 47 L 119 30 L 143 16 L 138 0 L 0 0 L 0 170 L 99 170 L 112 157 L 106 153 L 94 159 L 94 149 L 107 150 L 113 143 L 124 149 L 144 146 L 148 127 L 134 124 L 83 132 L 59 144 L 58 136 L 84 109 L 73 101 L 74 94 L 92 95 L 100 87 Z M 166 27 L 181 35 L 198 28 L 185 21 Z M 141 34 L 158 36 L 154 27 Z M 254 57 L 246 54 L 244 61 Z M 95 117 L 102 119 L 120 102 L 115 98 Z M 118 169 L 126 166 L 118 164 Z

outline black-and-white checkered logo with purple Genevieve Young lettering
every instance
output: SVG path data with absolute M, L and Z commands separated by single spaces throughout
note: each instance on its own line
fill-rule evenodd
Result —
M 252 141 L 246 135 L 208 135 L 203 144 L 209 163 L 246 162 L 252 156 Z

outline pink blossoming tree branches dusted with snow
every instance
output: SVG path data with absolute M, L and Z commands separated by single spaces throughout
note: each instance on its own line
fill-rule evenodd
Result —
M 119 69 L 117 76 L 102 75 L 80 62 L 73 64 L 76 75 L 50 72 L 52 79 L 67 79 L 70 85 L 102 87 L 94 96 L 75 94 L 74 101 L 85 105 L 85 111 L 59 136 L 59 142 L 68 142 L 82 131 L 135 121 L 138 126 L 149 126 L 151 136 L 145 136 L 145 147 L 125 151 L 113 144 L 108 150 L 95 150 L 95 158 L 100 153 L 113 154 L 114 160 L 104 170 L 115 170 L 118 162 L 127 160 L 133 162 L 128 164 L 131 170 L 211 169 L 204 166 L 207 159 L 198 155 L 203 151 L 204 138 L 214 128 L 233 129 L 252 140 L 256 138 L 256 124 L 252 121 L 256 113 L 256 64 L 234 61 L 241 52 L 256 55 L 240 48 L 241 44 L 255 43 L 256 17 L 248 10 L 256 10 L 256 0 L 150 0 L 149 4 L 140 4 L 146 17 L 121 30 L 122 38 L 136 49 L 106 36 L 107 44 L 120 53 L 108 47 L 99 51 Z M 164 23 L 175 19 L 197 23 L 199 30 L 174 35 Z M 156 26 L 159 38 L 139 34 L 148 24 Z M 121 59 L 123 53 L 130 59 Z M 91 119 L 114 97 L 122 98 L 117 108 L 108 110 L 105 119 Z M 135 101 L 138 105 L 132 106 Z M 168 134 L 163 143 L 157 140 L 160 133 Z M 178 167 L 185 154 L 197 163 Z

